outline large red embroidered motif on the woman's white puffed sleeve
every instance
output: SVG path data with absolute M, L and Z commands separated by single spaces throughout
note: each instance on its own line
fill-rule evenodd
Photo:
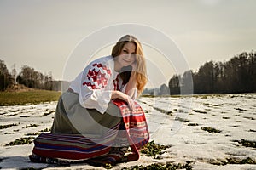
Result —
M 101 89 L 105 88 L 108 83 L 108 77 L 111 76 L 111 71 L 106 65 L 93 64 L 92 68 L 88 71 L 86 75 L 86 80 L 83 85 L 91 89 Z

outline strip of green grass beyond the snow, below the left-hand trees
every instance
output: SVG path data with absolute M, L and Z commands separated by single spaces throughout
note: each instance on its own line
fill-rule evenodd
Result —
M 0 92 L 0 106 L 26 105 L 56 101 L 61 92 L 48 90 L 32 90 L 27 92 Z

